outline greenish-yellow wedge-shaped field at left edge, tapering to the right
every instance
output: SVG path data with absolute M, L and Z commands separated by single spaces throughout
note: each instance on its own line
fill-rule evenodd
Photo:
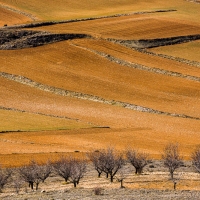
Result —
M 0 107 L 0 133 L 12 131 L 44 131 L 89 128 L 92 125 L 78 120 L 32 114 Z

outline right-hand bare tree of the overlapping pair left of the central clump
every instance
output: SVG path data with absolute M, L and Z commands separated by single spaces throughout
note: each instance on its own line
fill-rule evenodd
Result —
M 71 165 L 70 180 L 76 187 L 86 172 L 86 162 L 84 160 L 71 159 Z

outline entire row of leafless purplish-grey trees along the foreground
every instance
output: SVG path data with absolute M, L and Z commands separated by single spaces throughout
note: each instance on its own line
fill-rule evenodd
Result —
M 128 149 L 122 153 L 108 147 L 100 151 L 89 152 L 87 156 L 98 172 L 98 177 L 104 173 L 111 182 L 116 178 L 121 182 L 121 187 L 123 187 L 122 183 L 125 178 L 122 168 L 127 162 L 135 168 L 135 174 L 141 174 L 144 167 L 151 162 L 147 153 L 134 149 Z M 162 159 L 164 166 L 169 170 L 171 179 L 174 180 L 175 170 L 183 164 L 178 144 L 168 144 L 164 148 Z M 194 168 L 200 173 L 200 146 L 192 153 L 191 159 Z M 32 190 L 34 187 L 37 190 L 39 184 L 51 174 L 62 177 L 66 182 L 72 183 L 76 187 L 85 175 L 86 164 L 86 160 L 61 157 L 57 161 L 48 161 L 43 164 L 31 161 L 28 165 L 17 169 L 0 168 L 0 192 L 9 181 L 13 183 L 16 192 L 19 192 L 23 182 L 26 182 Z

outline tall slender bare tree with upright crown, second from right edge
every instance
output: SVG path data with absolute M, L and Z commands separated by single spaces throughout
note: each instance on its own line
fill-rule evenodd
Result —
M 162 159 L 164 160 L 165 167 L 169 169 L 171 179 L 174 179 L 174 171 L 183 164 L 178 144 L 170 143 L 166 145 Z

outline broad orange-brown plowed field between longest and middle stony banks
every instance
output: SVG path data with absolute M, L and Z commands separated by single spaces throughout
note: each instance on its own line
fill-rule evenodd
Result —
M 0 51 L 0 59 L 1 71 L 38 83 L 156 110 L 200 116 L 199 82 L 121 66 L 69 42 L 8 51 L 6 55 Z M 162 62 L 161 59 L 157 66 Z M 195 71 L 199 72 L 194 68 L 191 73 Z M 188 109 L 188 105 L 193 106 Z

